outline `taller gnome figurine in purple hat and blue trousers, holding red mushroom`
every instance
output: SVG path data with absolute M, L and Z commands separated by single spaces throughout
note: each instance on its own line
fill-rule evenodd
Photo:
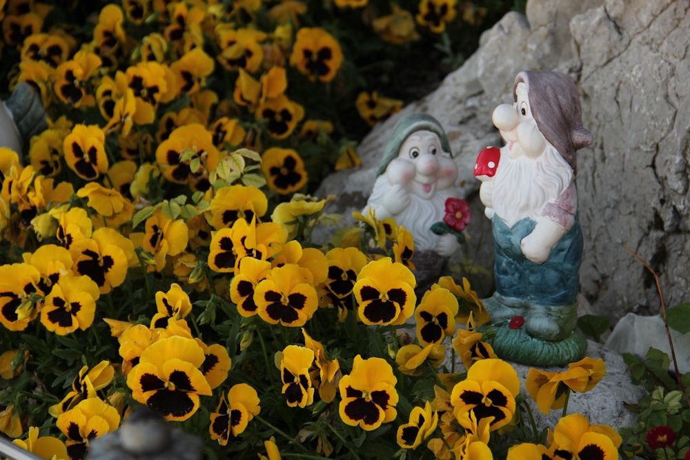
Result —
M 563 365 L 586 350 L 575 331 L 582 260 L 575 151 L 592 137 L 582 128 L 578 88 L 560 72 L 520 72 L 513 98 L 493 111 L 506 142 L 500 155 L 480 154 L 493 157 L 495 170 L 483 160 L 475 168 L 495 252 L 496 292 L 484 304 L 499 357 Z

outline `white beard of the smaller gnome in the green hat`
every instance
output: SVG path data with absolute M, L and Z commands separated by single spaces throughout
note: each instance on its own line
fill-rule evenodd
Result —
M 436 190 L 431 199 L 410 193 L 410 206 L 393 216 L 381 206 L 384 194 L 389 188 L 391 188 L 391 183 L 388 182 L 386 174 L 381 174 L 374 183 L 374 189 L 364 212 L 366 213 L 366 208 L 372 208 L 376 211 L 377 219 L 391 217 L 395 220 L 399 226 L 412 234 L 415 251 L 435 250 L 438 236 L 429 229 L 434 222 L 443 220 L 446 213 L 446 199 L 454 197 L 453 188 Z

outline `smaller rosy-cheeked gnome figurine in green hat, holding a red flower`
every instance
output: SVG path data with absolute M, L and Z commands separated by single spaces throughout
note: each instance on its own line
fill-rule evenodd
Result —
M 412 234 L 420 289 L 425 281 L 437 280 L 443 262 L 460 248 L 453 234 L 430 230 L 433 223 L 443 220 L 446 199 L 457 197 L 455 179 L 457 166 L 440 123 L 422 112 L 398 120 L 364 214 L 373 210 L 377 220 L 391 218 Z

